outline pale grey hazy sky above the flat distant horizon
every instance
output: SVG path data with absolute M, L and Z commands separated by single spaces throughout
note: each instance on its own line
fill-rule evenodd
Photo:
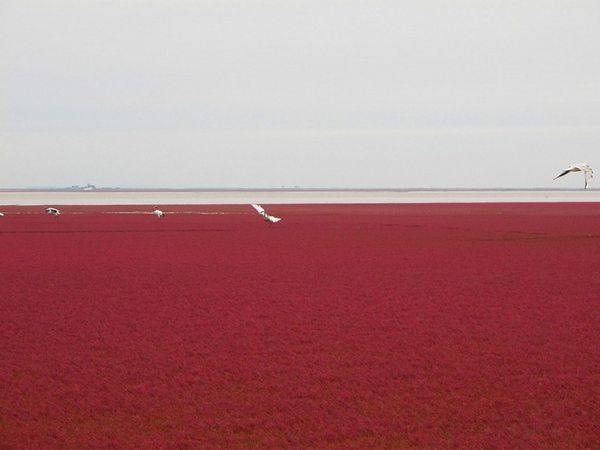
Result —
M 573 162 L 600 178 L 598 0 L 0 0 L 0 187 L 580 187 Z

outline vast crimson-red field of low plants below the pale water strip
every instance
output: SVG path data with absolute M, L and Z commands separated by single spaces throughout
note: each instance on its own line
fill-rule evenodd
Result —
M 600 447 L 598 204 L 41 209 L 0 447 Z

